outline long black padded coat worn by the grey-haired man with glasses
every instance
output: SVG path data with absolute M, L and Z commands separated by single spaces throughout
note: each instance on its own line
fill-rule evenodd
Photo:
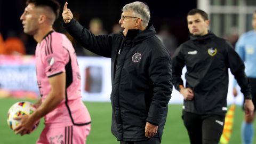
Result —
M 117 140 L 141 141 L 146 121 L 158 125 L 162 138 L 172 93 L 171 58 L 155 28 L 95 36 L 74 19 L 66 30 L 86 49 L 111 58 L 111 132 Z

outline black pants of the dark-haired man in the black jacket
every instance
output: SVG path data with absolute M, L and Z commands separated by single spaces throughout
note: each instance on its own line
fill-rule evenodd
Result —
M 197 115 L 183 111 L 182 118 L 191 144 L 219 143 L 225 115 Z

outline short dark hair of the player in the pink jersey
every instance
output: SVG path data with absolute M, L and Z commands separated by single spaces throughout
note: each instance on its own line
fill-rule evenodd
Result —
M 27 5 L 33 3 L 35 6 L 49 6 L 54 12 L 56 19 L 59 17 L 60 3 L 55 0 L 27 0 Z

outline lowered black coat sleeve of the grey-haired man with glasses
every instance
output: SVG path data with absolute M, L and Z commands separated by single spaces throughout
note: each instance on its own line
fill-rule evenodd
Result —
M 167 116 L 167 107 L 172 94 L 171 57 L 162 57 L 150 62 L 149 77 L 153 82 L 153 97 L 149 107 L 147 122 L 159 125 Z

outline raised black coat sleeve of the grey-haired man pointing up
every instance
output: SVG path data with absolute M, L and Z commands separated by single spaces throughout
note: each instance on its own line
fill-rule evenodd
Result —
M 85 49 L 103 57 L 111 58 L 111 45 L 113 40 L 111 35 L 95 36 L 90 30 L 80 25 L 74 18 L 69 23 L 64 23 L 63 27 L 79 44 L 85 47 Z

